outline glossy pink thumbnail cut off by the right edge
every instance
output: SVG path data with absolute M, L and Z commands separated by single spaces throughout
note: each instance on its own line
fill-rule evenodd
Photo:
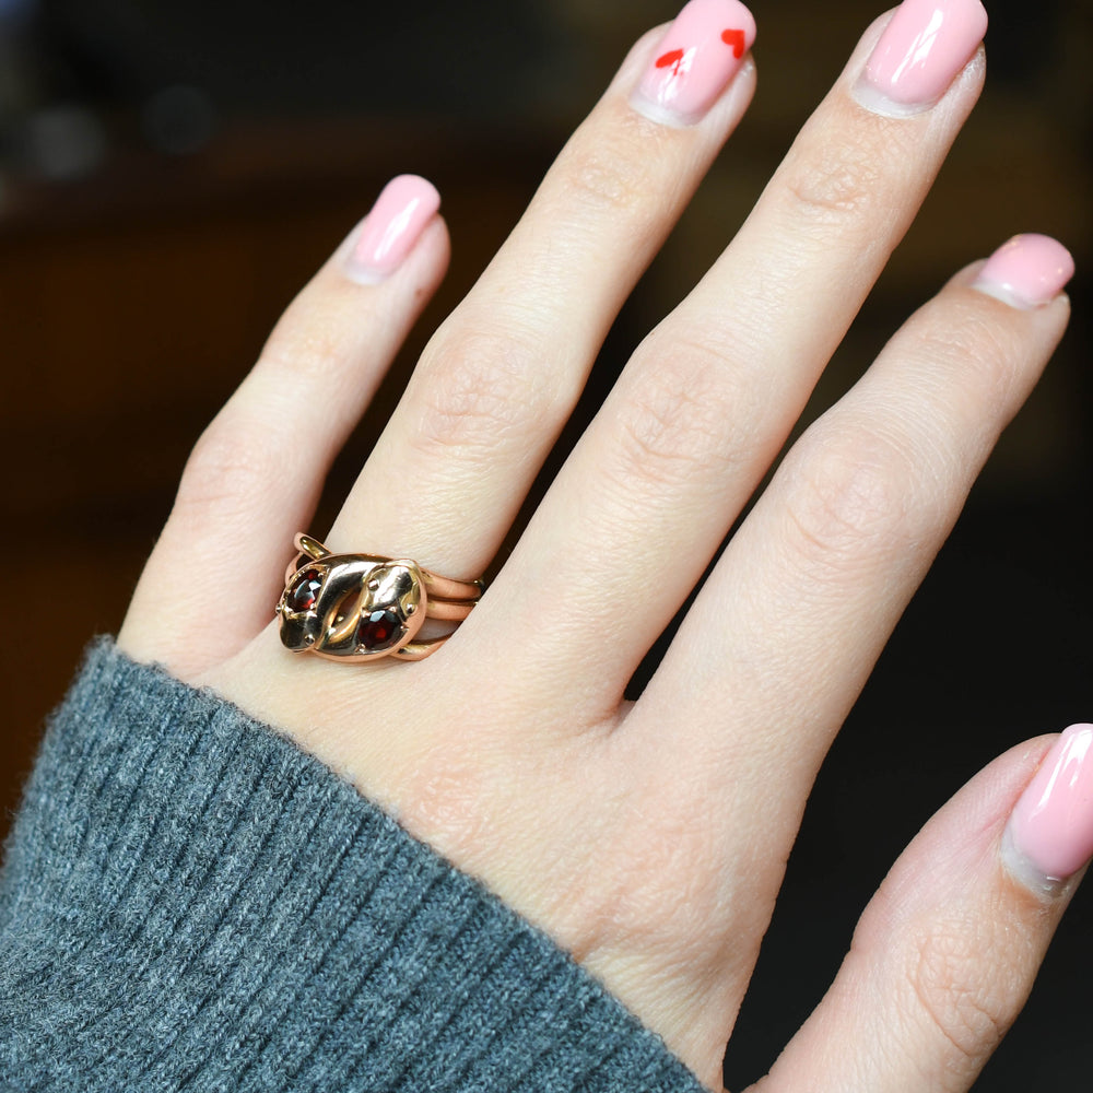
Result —
M 1007 826 L 1011 870 L 1050 890 L 1093 857 L 1093 725 L 1071 725 L 1047 753 Z

